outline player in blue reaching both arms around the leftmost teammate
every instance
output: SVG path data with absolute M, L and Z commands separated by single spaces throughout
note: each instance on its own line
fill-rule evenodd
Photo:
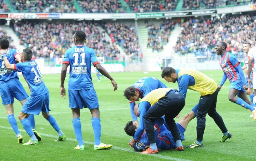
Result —
M 51 126 L 58 132 L 59 138 L 56 141 L 66 140 L 65 134 L 61 131 L 56 120 L 49 114 L 49 91 L 44 84 L 38 65 L 31 59 L 32 51 L 30 49 L 23 49 L 23 52 L 21 53 L 21 62 L 18 64 L 10 64 L 5 52 L 2 54 L 2 57 L 4 58 L 4 64 L 7 69 L 16 70 L 23 74 L 31 91 L 30 97 L 24 103 L 21 113 L 19 114 L 19 120 L 30 136 L 29 141 L 23 145 L 38 144 L 38 140 L 34 135 L 31 124 L 27 118 L 30 114 L 39 115 L 40 112 L 42 112 L 43 117 L 49 121 Z

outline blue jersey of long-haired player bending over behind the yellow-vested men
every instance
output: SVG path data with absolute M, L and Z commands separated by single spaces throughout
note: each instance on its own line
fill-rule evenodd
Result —
M 158 88 L 167 88 L 167 86 L 162 83 L 160 80 L 154 77 L 144 77 L 135 82 L 132 87 L 136 88 L 139 91 L 139 97 L 145 97 L 149 92 Z M 130 101 L 131 115 L 133 121 L 137 121 L 137 116 L 134 114 L 135 102 Z

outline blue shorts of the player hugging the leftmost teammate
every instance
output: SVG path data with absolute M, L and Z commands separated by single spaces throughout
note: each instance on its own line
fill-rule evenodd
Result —
M 49 111 L 51 111 L 49 109 L 49 92 L 41 96 L 29 97 L 21 109 L 21 112 L 25 114 L 36 115 L 39 115 L 40 112 L 48 113 Z

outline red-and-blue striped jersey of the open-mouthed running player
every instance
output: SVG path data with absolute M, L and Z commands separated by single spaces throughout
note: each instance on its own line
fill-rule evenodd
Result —
M 230 83 L 232 81 L 242 81 L 239 71 L 236 68 L 240 64 L 240 62 L 237 60 L 234 54 L 226 52 L 219 59 L 219 64 Z

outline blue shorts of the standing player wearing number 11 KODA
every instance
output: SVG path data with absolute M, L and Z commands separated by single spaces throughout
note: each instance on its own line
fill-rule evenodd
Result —
M 88 90 L 69 90 L 69 107 L 70 108 L 89 108 L 99 107 L 99 101 L 94 89 Z

